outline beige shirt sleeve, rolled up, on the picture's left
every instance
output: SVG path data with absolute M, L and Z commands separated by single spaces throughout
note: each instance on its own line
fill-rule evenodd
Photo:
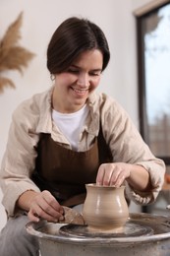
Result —
M 9 216 L 15 214 L 16 202 L 20 195 L 27 190 L 39 191 L 30 179 L 36 157 L 34 144 L 37 136 L 34 135 L 32 138 L 25 121 L 19 107 L 13 114 L 6 152 L 1 164 L 2 204 Z

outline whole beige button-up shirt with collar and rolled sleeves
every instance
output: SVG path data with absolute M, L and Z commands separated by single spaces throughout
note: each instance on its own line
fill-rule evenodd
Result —
M 0 170 L 3 190 L 2 203 L 9 216 L 16 214 L 16 201 L 27 190 L 39 191 L 31 181 L 34 169 L 39 133 L 50 133 L 54 141 L 71 149 L 71 145 L 51 118 L 51 94 L 47 92 L 32 96 L 14 111 L 6 152 Z M 153 202 L 164 180 L 164 162 L 156 159 L 142 141 L 137 128 L 127 112 L 110 96 L 93 93 L 87 100 L 89 114 L 80 134 L 79 151 L 86 151 L 99 132 L 99 122 L 113 161 L 142 165 L 150 174 L 152 191 L 133 191 L 126 182 L 126 193 L 137 204 Z

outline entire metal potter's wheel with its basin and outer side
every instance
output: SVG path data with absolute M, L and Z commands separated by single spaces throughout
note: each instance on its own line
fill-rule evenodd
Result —
M 38 237 L 42 256 L 167 256 L 170 255 L 170 217 L 130 214 L 122 232 L 89 232 L 87 226 L 28 223 Z

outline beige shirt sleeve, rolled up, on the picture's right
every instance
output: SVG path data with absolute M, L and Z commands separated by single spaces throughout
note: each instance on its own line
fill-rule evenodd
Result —
M 111 149 L 113 161 L 139 164 L 149 173 L 152 189 L 147 193 L 135 191 L 126 182 L 128 197 L 142 205 L 154 202 L 164 182 L 163 160 L 151 153 L 130 116 L 119 103 L 107 97 L 102 111 L 103 134 Z

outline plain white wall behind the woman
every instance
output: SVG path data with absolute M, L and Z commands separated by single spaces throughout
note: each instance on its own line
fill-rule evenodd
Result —
M 140 0 L 138 4 L 142 2 Z M 58 25 L 70 16 L 88 18 L 105 32 L 110 45 L 111 61 L 103 74 L 99 91 L 114 96 L 122 103 L 138 126 L 136 25 L 132 14 L 134 6 L 138 7 L 137 1 L 1 0 L 0 6 L 0 38 L 23 11 L 20 42 L 36 54 L 23 76 L 14 71 L 4 74 L 13 80 L 16 90 L 8 88 L 0 95 L 0 161 L 5 151 L 13 110 L 25 98 L 51 86 L 46 70 L 47 43 Z M 6 222 L 6 216 L 0 207 L 1 228 Z

